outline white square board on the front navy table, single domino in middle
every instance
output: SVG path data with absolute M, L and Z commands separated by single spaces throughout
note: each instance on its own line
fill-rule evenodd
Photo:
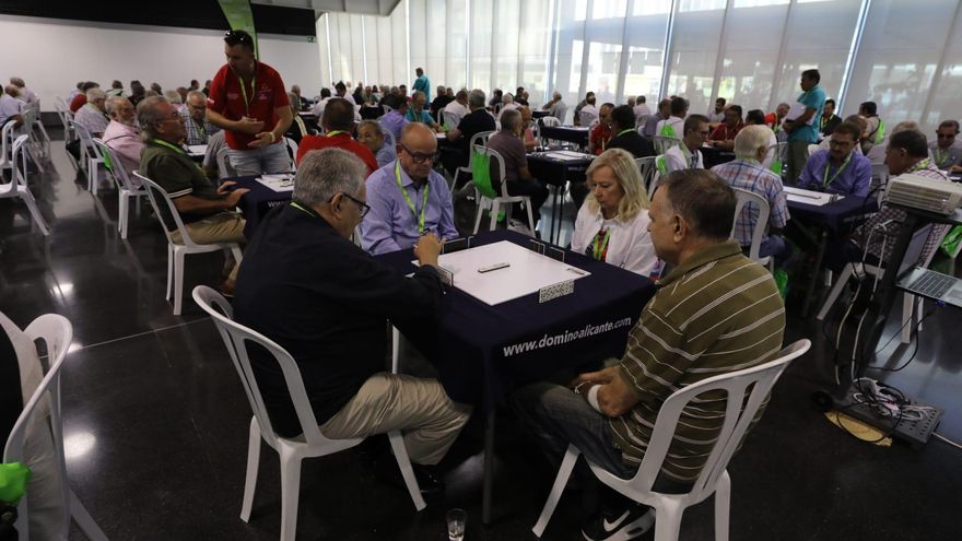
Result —
M 442 254 L 437 263 L 454 274 L 455 287 L 489 306 L 538 293 L 559 282 L 591 275 L 507 240 Z M 508 263 L 508 267 L 478 272 L 480 268 L 497 263 Z

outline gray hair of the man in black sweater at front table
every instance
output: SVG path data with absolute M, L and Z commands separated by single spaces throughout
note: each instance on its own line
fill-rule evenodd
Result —
M 354 154 L 341 149 L 310 151 L 304 155 L 294 175 L 295 201 L 317 207 L 338 193 L 354 196 L 361 191 L 367 166 Z

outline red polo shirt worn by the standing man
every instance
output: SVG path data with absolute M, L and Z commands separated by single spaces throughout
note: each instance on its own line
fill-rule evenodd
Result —
M 274 109 L 291 105 L 281 74 L 270 66 L 257 62 L 254 89 L 245 84 L 244 90 L 247 94 L 247 102 L 244 101 L 245 93 L 241 91 L 241 79 L 227 64 L 224 64 L 211 81 L 207 107 L 228 120 L 241 120 L 242 117 L 262 120 L 263 130 L 261 131 L 273 130 L 278 125 L 278 114 Z M 254 139 L 254 136 L 247 133 L 224 130 L 224 141 L 227 146 L 234 150 L 249 150 L 247 143 Z

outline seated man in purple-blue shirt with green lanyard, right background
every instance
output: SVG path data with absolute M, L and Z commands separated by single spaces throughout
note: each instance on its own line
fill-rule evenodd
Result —
M 813 153 L 796 186 L 841 196 L 868 196 L 871 186 L 871 162 L 855 152 L 861 128 L 842 122 L 832 132 L 829 150 Z

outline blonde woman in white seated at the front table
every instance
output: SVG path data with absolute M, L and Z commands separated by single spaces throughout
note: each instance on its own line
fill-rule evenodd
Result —
M 636 274 L 655 274 L 659 262 L 648 234 L 649 202 L 634 156 L 607 150 L 588 167 L 587 178 L 591 192 L 575 220 L 572 250 Z

